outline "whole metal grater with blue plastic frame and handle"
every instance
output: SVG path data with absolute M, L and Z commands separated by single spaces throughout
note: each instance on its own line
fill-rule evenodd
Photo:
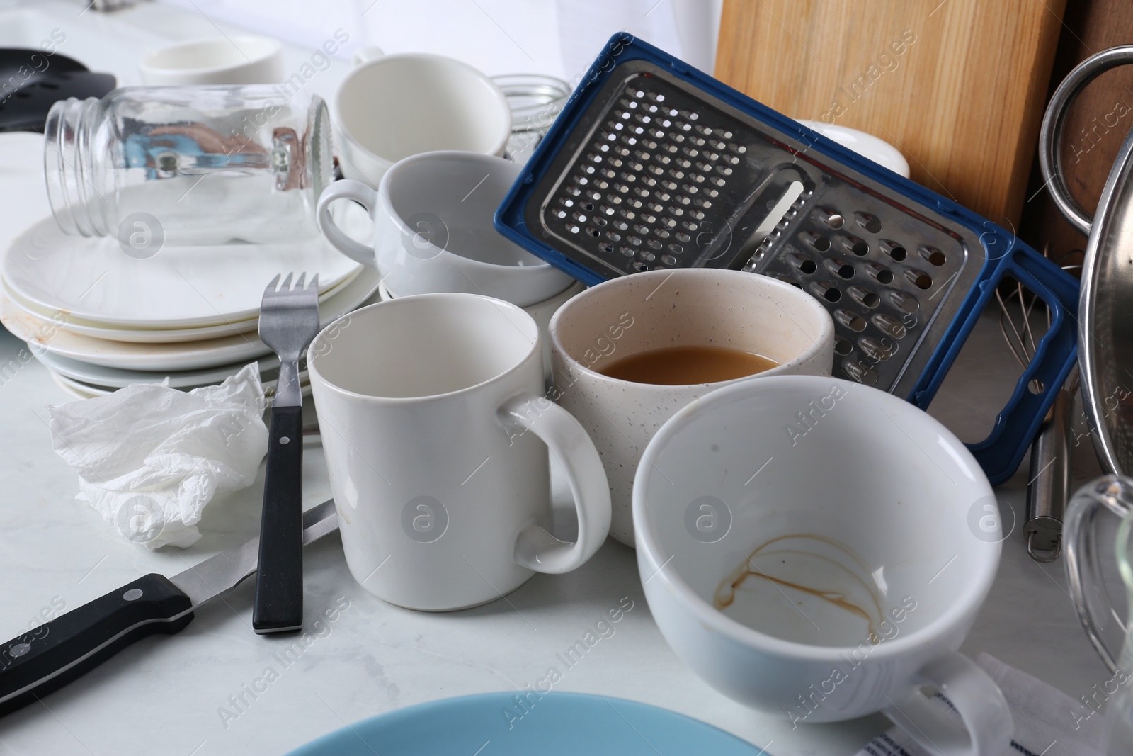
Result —
M 1077 281 L 1014 233 L 627 33 L 607 42 L 495 215 L 586 283 L 642 270 L 772 275 L 830 312 L 834 374 L 926 409 L 996 287 L 1051 312 L 986 439 L 1019 467 L 1075 363 Z

